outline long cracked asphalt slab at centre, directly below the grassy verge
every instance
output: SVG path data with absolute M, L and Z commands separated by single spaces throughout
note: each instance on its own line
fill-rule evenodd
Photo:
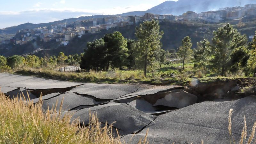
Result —
M 84 84 L 71 90 L 97 99 L 128 99 L 138 95 L 150 95 L 182 86 L 154 86 L 148 84 Z

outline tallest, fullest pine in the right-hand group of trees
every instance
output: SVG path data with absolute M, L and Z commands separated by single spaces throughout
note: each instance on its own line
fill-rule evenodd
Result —
M 247 43 L 247 38 L 245 35 L 241 35 L 235 28 L 231 27 L 229 24 L 222 28 L 218 28 L 214 33 L 212 38 L 212 60 L 211 67 L 218 71 L 221 76 L 231 69 L 235 65 L 232 56 L 240 54 L 243 51 L 244 46 Z M 243 61 L 245 55 L 241 57 L 235 57 L 236 64 L 237 61 L 240 63 Z M 239 64 L 238 64 L 239 65 Z

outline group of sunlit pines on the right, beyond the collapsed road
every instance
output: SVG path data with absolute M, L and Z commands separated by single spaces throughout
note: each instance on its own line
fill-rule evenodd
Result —
M 184 61 L 193 59 L 196 68 L 221 76 L 238 69 L 243 69 L 247 75 L 256 74 L 256 36 L 248 43 L 247 37 L 229 24 L 213 32 L 212 43 L 204 39 L 197 43 L 194 51 L 191 47 L 187 36 L 177 52 L 183 68 Z

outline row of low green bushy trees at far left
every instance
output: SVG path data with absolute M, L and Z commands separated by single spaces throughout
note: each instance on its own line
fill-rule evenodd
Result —
M 36 55 L 18 56 L 13 55 L 11 57 L 0 56 L 0 70 L 8 70 L 10 68 L 27 66 L 27 67 L 49 67 L 57 65 L 78 65 L 80 62 L 78 54 L 66 56 L 63 52 L 60 52 L 58 57 L 50 56 L 39 58 Z

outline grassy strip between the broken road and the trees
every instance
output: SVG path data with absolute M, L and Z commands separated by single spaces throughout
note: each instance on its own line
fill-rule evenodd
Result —
M 144 76 L 142 70 L 113 70 L 113 71 L 90 71 L 90 72 L 60 72 L 50 68 L 14 68 L 10 73 L 38 76 L 63 81 L 85 82 L 85 83 L 140 83 L 152 85 L 183 85 L 188 86 L 194 79 L 202 82 L 214 81 L 220 78 L 232 79 L 232 77 L 207 76 L 204 72 L 194 69 L 193 63 L 185 64 L 185 70 L 181 63 L 164 65 L 152 73 Z M 239 76 L 237 76 L 239 77 Z

